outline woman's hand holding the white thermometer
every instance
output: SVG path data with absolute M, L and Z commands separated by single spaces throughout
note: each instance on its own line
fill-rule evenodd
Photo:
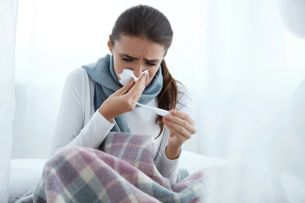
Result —
M 188 139 L 196 133 L 194 120 L 186 113 L 177 110 L 170 110 L 171 115 L 163 117 L 163 122 L 170 130 L 167 147 L 181 149 Z

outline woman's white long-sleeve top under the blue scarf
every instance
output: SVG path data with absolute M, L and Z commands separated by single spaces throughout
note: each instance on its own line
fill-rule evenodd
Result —
M 190 114 L 191 97 L 179 83 L 176 110 Z M 53 131 L 51 155 L 65 146 L 82 146 L 97 149 L 115 124 L 94 110 L 95 82 L 85 69 L 76 68 L 67 77 L 60 101 L 58 117 Z M 157 97 L 148 106 L 158 107 Z M 149 134 L 156 138 L 160 127 L 155 123 L 157 115 L 144 107 L 137 107 L 124 114 L 133 134 Z M 160 174 L 176 183 L 178 159 L 166 157 L 169 129 L 164 127 L 154 143 L 154 160 Z M 179 156 L 180 157 L 180 156 Z

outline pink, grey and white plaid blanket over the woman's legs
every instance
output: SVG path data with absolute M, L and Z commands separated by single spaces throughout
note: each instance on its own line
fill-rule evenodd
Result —
M 45 164 L 40 183 L 17 202 L 200 202 L 204 173 L 158 172 L 153 138 L 110 132 L 99 150 L 66 147 Z

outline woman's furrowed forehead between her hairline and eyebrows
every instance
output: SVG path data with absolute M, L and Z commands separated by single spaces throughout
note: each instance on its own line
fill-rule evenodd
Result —
M 119 41 L 115 42 L 114 49 L 133 57 L 138 57 L 144 53 L 149 55 L 150 58 L 161 58 L 165 53 L 163 45 L 143 38 L 127 36 L 121 36 Z

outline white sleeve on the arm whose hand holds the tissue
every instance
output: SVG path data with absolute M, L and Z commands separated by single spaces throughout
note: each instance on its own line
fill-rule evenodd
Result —
M 89 91 L 89 84 L 84 80 L 84 72 L 73 70 L 67 77 L 59 111 L 52 135 L 50 155 L 65 146 L 82 146 L 97 149 L 104 141 L 115 121 L 109 122 L 96 111 L 84 125 L 83 92 Z

